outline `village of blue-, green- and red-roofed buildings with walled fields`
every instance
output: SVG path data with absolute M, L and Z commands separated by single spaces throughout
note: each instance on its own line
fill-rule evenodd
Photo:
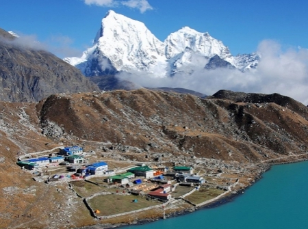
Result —
M 179 203 L 192 209 L 238 189 L 238 179 L 233 176 L 227 180 L 227 186 L 221 185 L 226 178 L 219 177 L 219 170 L 209 176 L 192 165 L 133 162 L 114 166 L 114 161 L 99 160 L 94 152 L 85 152 L 80 146 L 67 146 L 51 153 L 25 154 L 18 158 L 17 165 L 31 172 L 38 182 L 68 183 L 96 219 L 153 208 L 165 210 Z M 116 202 L 121 202 L 120 206 Z

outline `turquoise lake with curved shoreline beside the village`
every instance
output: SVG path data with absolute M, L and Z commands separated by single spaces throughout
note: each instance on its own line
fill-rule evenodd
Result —
M 274 165 L 243 194 L 214 208 L 125 229 L 308 228 L 308 161 Z

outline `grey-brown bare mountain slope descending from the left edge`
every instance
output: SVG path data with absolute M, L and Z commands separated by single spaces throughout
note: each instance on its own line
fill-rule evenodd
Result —
M 39 101 L 56 93 L 99 90 L 79 70 L 0 30 L 0 100 Z

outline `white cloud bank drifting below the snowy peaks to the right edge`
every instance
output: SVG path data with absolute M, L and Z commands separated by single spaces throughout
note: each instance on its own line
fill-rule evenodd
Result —
M 144 87 L 183 87 L 207 95 L 218 90 L 247 93 L 279 93 L 308 104 L 308 49 L 283 50 L 281 44 L 264 40 L 258 46 L 261 60 L 257 69 L 194 68 L 192 75 L 178 73 L 174 77 L 157 78 L 142 72 L 120 75 Z

